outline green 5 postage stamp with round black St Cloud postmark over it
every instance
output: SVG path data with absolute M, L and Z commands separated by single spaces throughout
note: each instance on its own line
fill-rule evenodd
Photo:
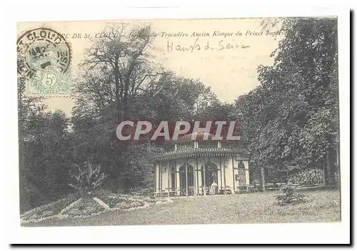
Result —
M 17 40 L 17 53 L 24 58 L 18 71 L 28 95 L 69 95 L 71 47 L 64 36 L 48 28 L 26 31 Z

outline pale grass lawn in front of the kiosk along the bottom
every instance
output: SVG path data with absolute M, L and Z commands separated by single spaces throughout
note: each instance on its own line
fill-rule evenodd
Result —
M 104 212 L 81 219 L 47 220 L 24 226 L 79 225 L 171 225 L 233 224 L 269 222 L 336 222 L 340 221 L 340 191 L 301 192 L 307 202 L 298 205 L 276 205 L 281 192 L 216 195 L 177 198 L 174 203 L 154 205 L 131 212 Z

